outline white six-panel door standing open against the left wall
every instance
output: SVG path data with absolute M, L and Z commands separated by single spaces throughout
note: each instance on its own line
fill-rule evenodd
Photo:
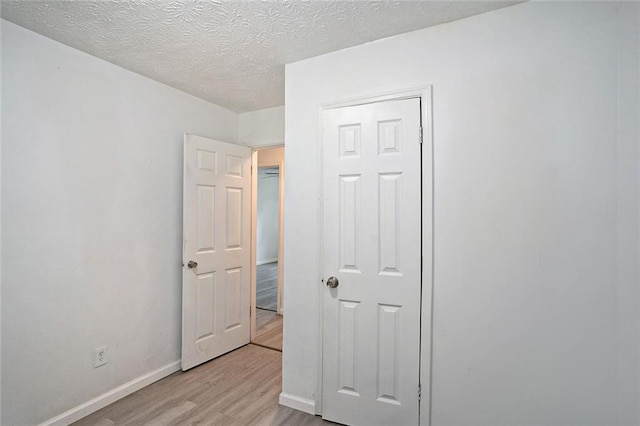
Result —
M 185 134 L 182 370 L 249 343 L 251 150 Z

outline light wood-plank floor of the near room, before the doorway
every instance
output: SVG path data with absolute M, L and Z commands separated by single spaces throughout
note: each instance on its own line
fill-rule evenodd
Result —
M 74 423 L 113 425 L 331 425 L 278 405 L 282 354 L 247 345 L 174 373 Z

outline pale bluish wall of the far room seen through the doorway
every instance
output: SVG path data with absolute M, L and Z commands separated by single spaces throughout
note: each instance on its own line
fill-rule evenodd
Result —
M 260 155 L 260 153 L 258 153 Z M 280 206 L 278 168 L 258 169 L 258 212 L 256 262 L 258 265 L 278 260 L 278 211 Z

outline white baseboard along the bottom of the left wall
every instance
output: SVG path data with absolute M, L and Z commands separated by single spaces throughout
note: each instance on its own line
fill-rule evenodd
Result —
M 125 383 L 124 385 L 118 386 L 117 388 L 112 389 L 109 392 L 103 393 L 102 395 L 99 395 L 85 402 L 84 404 L 80 404 L 69 411 L 65 411 L 64 413 L 52 419 L 49 419 L 44 423 L 41 423 L 40 426 L 69 425 L 75 421 L 80 420 L 83 417 L 88 416 L 91 413 L 95 413 L 99 409 L 104 408 L 107 405 L 116 402 L 117 400 L 122 399 L 127 395 L 132 394 L 139 389 L 142 389 L 145 386 L 150 385 L 153 382 L 157 382 L 158 380 L 167 377 L 169 374 L 175 373 L 178 370 L 180 370 L 180 361 L 167 364 L 164 367 L 160 367 L 157 370 L 137 377 L 130 382 Z

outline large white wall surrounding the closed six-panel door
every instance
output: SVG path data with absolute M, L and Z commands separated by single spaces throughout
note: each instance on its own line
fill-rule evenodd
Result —
M 287 65 L 283 395 L 320 400 L 320 107 L 432 84 L 432 424 L 640 422 L 639 19 L 529 2 Z

